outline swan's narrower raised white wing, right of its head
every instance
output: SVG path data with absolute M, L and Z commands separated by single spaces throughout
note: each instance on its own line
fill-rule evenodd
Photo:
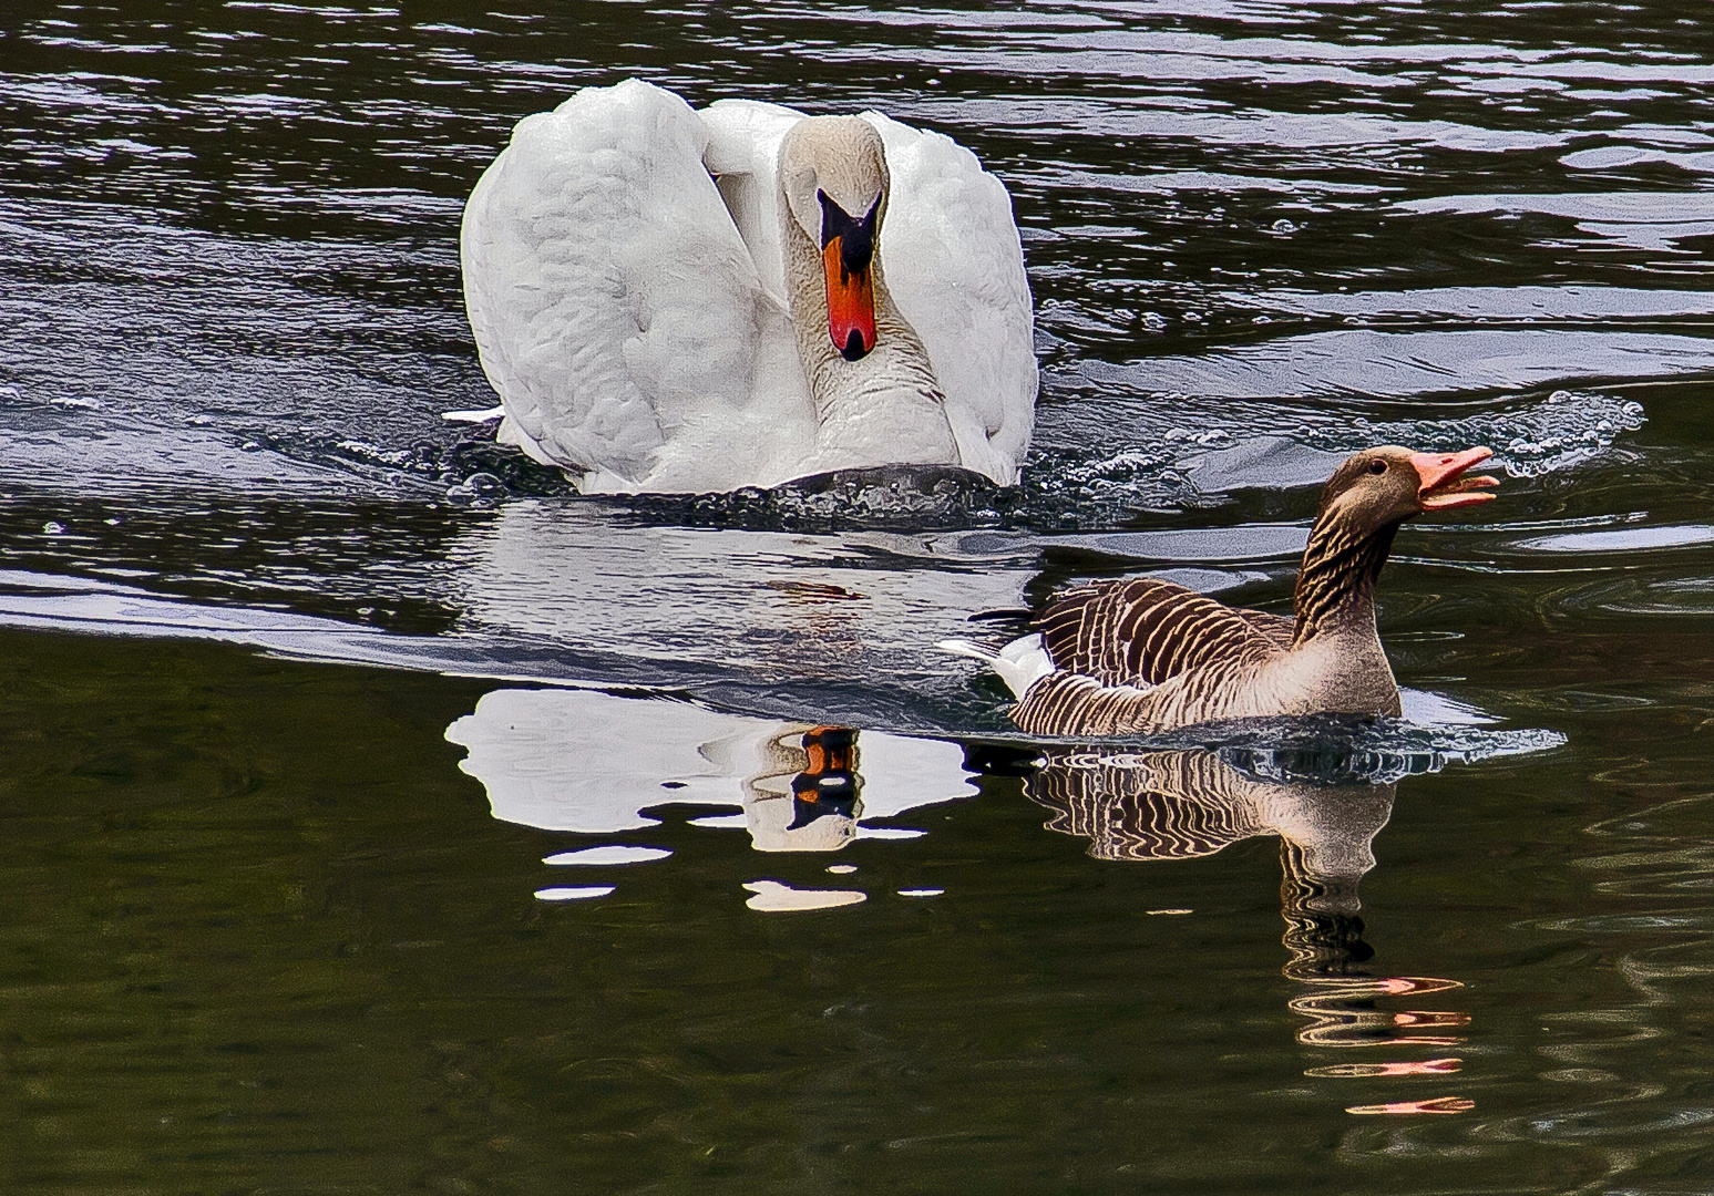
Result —
M 958 452 L 1001 485 L 1018 480 L 1035 422 L 1035 319 L 1004 183 L 936 132 L 866 111 L 893 185 L 881 269 L 946 396 Z

